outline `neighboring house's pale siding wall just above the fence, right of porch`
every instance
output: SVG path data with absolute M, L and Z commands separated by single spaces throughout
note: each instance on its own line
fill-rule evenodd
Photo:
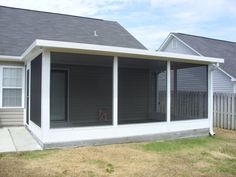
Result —
M 214 92 L 233 93 L 234 86 L 231 78 L 219 69 L 213 73 L 213 90 Z

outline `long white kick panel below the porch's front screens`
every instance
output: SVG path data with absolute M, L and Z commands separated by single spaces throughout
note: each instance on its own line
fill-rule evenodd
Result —
M 132 136 L 171 133 L 195 129 L 208 129 L 208 119 L 129 124 L 114 126 L 94 126 L 50 129 L 43 143 L 60 143 L 107 138 L 126 138 Z

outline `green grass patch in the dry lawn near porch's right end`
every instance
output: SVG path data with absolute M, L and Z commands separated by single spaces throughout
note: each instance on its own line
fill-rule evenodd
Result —
M 217 141 L 217 139 L 214 137 L 180 139 L 180 140 L 175 140 L 175 141 L 170 140 L 170 141 L 163 141 L 163 142 L 152 142 L 152 143 L 143 145 L 143 148 L 146 151 L 170 153 L 170 152 L 176 152 L 182 149 L 192 149 L 192 148 L 208 146 L 213 141 Z

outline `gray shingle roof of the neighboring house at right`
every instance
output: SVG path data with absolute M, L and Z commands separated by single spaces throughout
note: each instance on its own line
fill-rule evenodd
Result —
M 183 33 L 173 33 L 203 56 L 225 59 L 220 68 L 236 78 L 236 42 L 211 39 Z

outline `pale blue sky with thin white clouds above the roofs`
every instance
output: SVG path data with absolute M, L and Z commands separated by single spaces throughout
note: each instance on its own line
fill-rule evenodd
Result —
M 0 5 L 118 21 L 150 50 L 170 32 L 236 41 L 236 0 L 0 0 Z

